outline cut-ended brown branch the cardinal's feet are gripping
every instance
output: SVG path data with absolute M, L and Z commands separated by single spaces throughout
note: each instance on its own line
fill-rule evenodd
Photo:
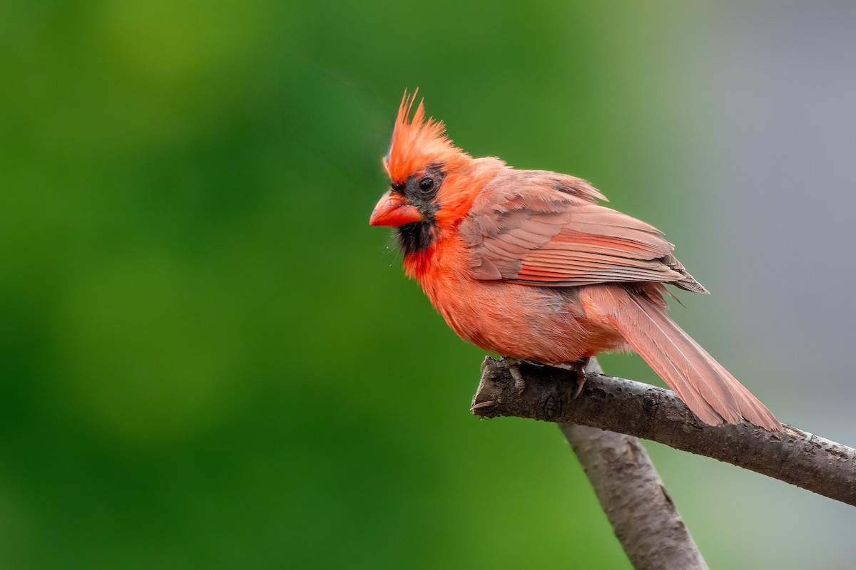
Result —
M 574 398 L 574 373 L 521 364 L 525 386 L 508 362 L 485 360 L 473 414 L 514 415 L 592 426 L 650 439 L 696 455 L 744 467 L 856 506 L 856 450 L 792 426 L 767 432 L 756 426 L 707 426 L 675 396 L 656 386 L 588 374 Z

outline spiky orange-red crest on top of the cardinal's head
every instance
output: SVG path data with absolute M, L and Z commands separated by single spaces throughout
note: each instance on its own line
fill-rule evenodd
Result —
M 419 101 L 413 119 L 408 120 L 417 93 L 419 89 L 413 91 L 412 96 L 404 91 L 389 153 L 383 157 L 383 166 L 393 184 L 403 183 L 408 176 L 430 162 L 442 162 L 443 157 L 449 154 L 462 154 L 446 136 L 442 120 L 434 120 L 433 117 L 425 119 L 424 99 Z

